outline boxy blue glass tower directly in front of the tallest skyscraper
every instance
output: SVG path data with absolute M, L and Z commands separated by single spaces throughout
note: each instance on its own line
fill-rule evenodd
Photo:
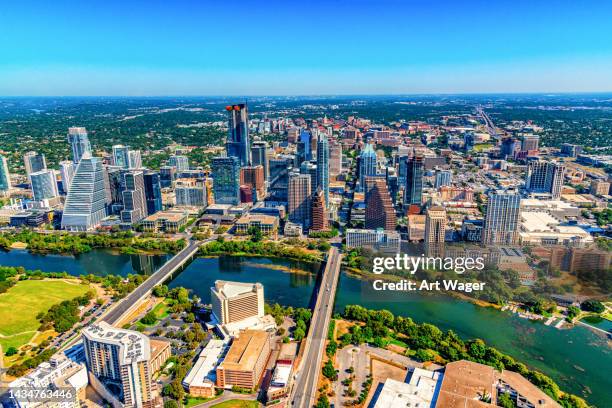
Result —
M 240 201 L 240 160 L 237 157 L 212 159 L 215 203 L 236 205 Z

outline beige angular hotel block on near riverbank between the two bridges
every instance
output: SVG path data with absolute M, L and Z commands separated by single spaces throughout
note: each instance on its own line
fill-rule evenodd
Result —
M 210 288 L 210 303 L 213 316 L 220 324 L 263 317 L 263 285 L 217 280 Z

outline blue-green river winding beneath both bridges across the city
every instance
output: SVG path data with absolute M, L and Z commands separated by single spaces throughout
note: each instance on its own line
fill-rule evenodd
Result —
M 26 251 L 0 253 L 0 265 L 24 266 L 44 271 L 65 270 L 73 275 L 151 273 L 165 256 L 118 255 L 95 250 L 76 257 L 31 255 Z M 217 279 L 261 282 L 267 302 L 306 307 L 315 285 L 317 265 L 284 259 L 256 257 L 197 258 L 170 283 L 184 286 L 210 302 L 210 287 Z M 416 322 L 429 322 L 454 330 L 463 338 L 482 338 L 552 377 L 562 389 L 586 397 L 598 407 L 612 406 L 612 349 L 606 339 L 583 326 L 558 330 L 507 312 L 483 308 L 444 295 L 385 292 L 373 294 L 371 285 L 346 273 L 340 278 L 336 311 L 347 304 L 388 309 Z M 602 325 L 606 325 L 603 323 Z M 589 393 L 590 391 L 590 393 Z

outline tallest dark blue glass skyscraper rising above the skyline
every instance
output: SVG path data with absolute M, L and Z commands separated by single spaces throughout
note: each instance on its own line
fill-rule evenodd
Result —
M 249 114 L 246 103 L 226 106 L 228 136 L 225 148 L 229 157 L 236 157 L 241 166 L 251 164 L 249 140 Z

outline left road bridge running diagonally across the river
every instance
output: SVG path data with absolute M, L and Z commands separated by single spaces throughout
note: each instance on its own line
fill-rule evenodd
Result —
M 138 304 L 140 300 L 150 294 L 155 286 L 164 283 L 166 279 L 172 276 L 176 269 L 180 268 L 187 260 L 189 260 L 189 258 L 195 255 L 200 248 L 200 245 L 208 241 L 209 240 L 189 241 L 185 248 L 166 262 L 140 286 L 134 289 L 133 292 L 129 293 L 126 297 L 117 302 L 115 306 L 102 317 L 101 320 L 112 325 L 119 323 L 121 318 L 130 310 L 132 306 Z

